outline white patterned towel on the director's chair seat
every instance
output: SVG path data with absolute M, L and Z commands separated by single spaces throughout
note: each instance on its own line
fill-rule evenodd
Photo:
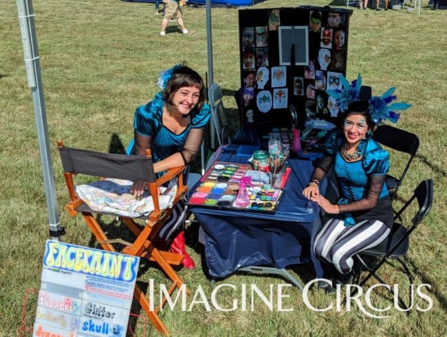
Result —
M 148 191 L 144 191 L 141 197 L 133 196 L 130 193 L 132 184 L 131 181 L 107 178 L 76 186 L 76 193 L 92 211 L 129 218 L 147 216 L 155 209 L 152 197 Z M 160 187 L 160 191 L 161 194 L 158 196 L 160 209 L 172 207 L 177 185 L 170 188 Z

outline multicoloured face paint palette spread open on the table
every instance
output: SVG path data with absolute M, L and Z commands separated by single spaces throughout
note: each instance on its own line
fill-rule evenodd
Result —
M 188 200 L 188 205 L 217 209 L 243 209 L 244 211 L 274 212 L 279 205 L 282 189 L 264 184 L 247 187 L 250 204 L 236 205 L 241 178 L 250 165 L 216 162 L 201 178 L 201 183 Z

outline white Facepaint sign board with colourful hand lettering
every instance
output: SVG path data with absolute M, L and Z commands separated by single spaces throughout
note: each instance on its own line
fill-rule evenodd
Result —
M 126 336 L 139 263 L 47 240 L 32 336 Z

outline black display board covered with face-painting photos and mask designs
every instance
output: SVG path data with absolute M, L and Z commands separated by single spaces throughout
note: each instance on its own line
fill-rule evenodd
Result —
M 309 118 L 336 121 L 338 104 L 327 89 L 346 75 L 352 10 L 301 6 L 239 10 L 244 126 L 302 128 Z

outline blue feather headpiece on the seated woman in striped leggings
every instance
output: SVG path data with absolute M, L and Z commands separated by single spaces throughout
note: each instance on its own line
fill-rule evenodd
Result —
M 362 77 L 360 73 L 357 75 L 357 79 L 353 80 L 349 84 L 345 76 L 341 75 L 342 90 L 327 90 L 327 94 L 335 98 L 340 106 L 340 111 L 344 113 L 351 102 L 358 101 L 358 96 L 360 94 L 360 88 L 362 86 Z M 393 95 L 395 91 L 395 86 L 384 92 L 382 96 L 373 96 L 369 100 L 369 115 L 371 116 L 371 121 L 373 124 L 381 124 L 382 121 L 388 119 L 393 123 L 397 122 L 400 113 L 396 111 L 406 110 L 411 107 L 408 103 L 393 103 L 396 96 Z

